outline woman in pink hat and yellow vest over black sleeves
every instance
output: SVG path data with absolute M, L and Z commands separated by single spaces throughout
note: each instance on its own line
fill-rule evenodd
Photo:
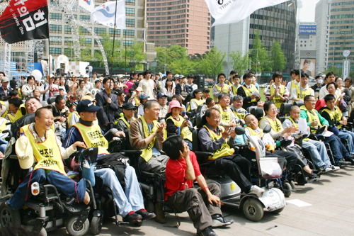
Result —
M 183 140 L 188 143 L 189 149 L 192 150 L 193 125 L 188 118 L 183 118 L 182 111 L 183 107 L 179 101 L 173 100 L 170 102 L 169 113 L 166 115 L 166 131 L 168 135 L 182 135 Z

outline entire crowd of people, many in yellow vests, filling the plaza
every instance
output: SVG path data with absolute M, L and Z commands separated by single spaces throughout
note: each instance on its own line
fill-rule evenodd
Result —
M 354 115 L 350 113 L 354 112 L 354 87 L 352 79 L 343 82 L 333 72 L 324 78 L 316 77 L 312 87 L 308 85 L 309 76 L 302 71 L 292 71 L 290 82 L 284 82 L 282 73 L 275 72 L 270 86 L 264 90 L 265 101 L 261 101 L 253 72 L 239 75 L 232 71 L 229 78 L 224 73 L 218 74 L 210 96 L 210 89 L 193 83 L 192 74 L 173 76 L 173 72 L 167 71 L 166 77 L 162 77 L 146 70 L 132 72 L 127 79 L 122 76 L 114 79 L 98 78 L 92 69 L 86 70 L 92 74 L 91 81 L 89 74 L 81 79 L 76 74 L 71 78 L 50 74 L 47 81 L 36 81 L 29 76 L 18 82 L 13 79 L 10 84 L 8 77 L 0 72 L 0 130 L 17 130 L 17 142 L 30 145 L 35 157 L 34 163 L 20 163 L 34 169 L 6 202 L 8 208 L 21 209 L 32 196 L 28 186 L 35 181 L 49 181 L 68 196 L 88 204 L 90 196 L 84 181 L 71 181 L 62 159 L 67 159 L 77 147 L 98 147 L 97 159 L 101 161 L 115 157 L 117 153 L 108 151 L 108 142 L 120 137 L 127 140 L 125 148 L 142 150 L 139 169 L 161 174 L 166 181 L 165 193 L 158 191 L 154 213 L 149 213 L 144 207 L 135 168 L 122 161 L 125 172 L 119 175 L 110 168 L 94 167 L 95 176 L 112 186 L 123 220 L 156 218 L 157 222 L 166 223 L 161 205 L 164 199 L 171 208 L 188 211 L 198 234 L 216 235 L 213 227 L 230 225 L 233 221 L 222 216 L 220 188 L 206 183 L 193 152 L 196 113 L 202 116 L 198 133 L 200 149 L 213 153 L 207 160 L 208 167 L 226 172 L 243 193 L 261 197 L 264 189 L 252 184 L 251 162 L 235 152 L 234 147 L 236 143 L 247 142 L 247 135 L 263 137 L 263 129 L 268 125 L 273 139 L 267 140 L 267 154 L 278 157 L 282 169 L 299 164 L 306 176 L 316 178 L 338 170 L 341 164 L 354 164 L 354 133 L 348 128 L 353 124 Z M 280 122 L 282 103 L 295 101 L 302 101 L 303 105 L 292 106 L 289 116 Z M 251 106 L 263 108 L 261 120 L 247 111 Z M 292 151 L 301 119 L 306 120 L 307 135 L 316 136 L 316 140 L 307 138 L 302 142 L 316 168 Z M 8 121 L 13 124 L 6 125 Z M 246 135 L 236 135 L 237 125 L 245 127 Z M 348 140 L 349 148 L 341 138 Z M 335 163 L 330 162 L 326 143 L 331 146 Z M 2 158 L 6 145 L 6 133 L 1 133 Z M 45 148 L 50 154 L 42 152 Z M 199 189 L 193 188 L 193 181 L 198 182 Z

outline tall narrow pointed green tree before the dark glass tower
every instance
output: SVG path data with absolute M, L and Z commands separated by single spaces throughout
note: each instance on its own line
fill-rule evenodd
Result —
M 252 60 L 251 64 L 253 64 L 252 68 L 256 69 L 258 73 L 271 71 L 269 55 L 265 45 L 263 45 L 261 38 L 259 37 L 258 29 L 254 32 L 253 49 L 251 50 L 250 55 Z

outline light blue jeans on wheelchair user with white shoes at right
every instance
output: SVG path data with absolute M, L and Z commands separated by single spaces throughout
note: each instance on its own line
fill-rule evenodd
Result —
M 302 141 L 302 147 L 310 153 L 316 167 L 331 165 L 324 142 L 315 140 Z

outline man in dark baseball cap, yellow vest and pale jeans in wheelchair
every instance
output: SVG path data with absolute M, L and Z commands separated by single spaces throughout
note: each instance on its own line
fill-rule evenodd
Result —
M 111 155 L 108 152 L 108 141 L 103 136 L 103 132 L 97 123 L 96 113 L 100 109 L 99 106 L 93 105 L 90 100 L 80 101 L 77 105 L 77 112 L 80 115 L 79 123 L 76 123 L 67 132 L 67 136 L 64 140 L 64 147 L 68 147 L 74 142 L 81 141 L 86 144 L 87 147 L 98 147 L 98 157 L 108 158 Z M 123 135 L 122 131 L 112 129 L 109 133 L 115 133 L 115 135 Z M 94 162 L 94 160 L 93 160 Z M 101 168 L 95 169 L 94 173 L 97 177 L 101 178 L 103 184 L 111 186 L 113 189 L 114 201 L 119 208 L 119 213 L 126 222 L 137 222 L 138 220 L 147 220 L 155 217 L 154 213 L 148 213 L 144 208 L 144 201 L 142 198 L 142 192 L 139 188 L 137 181 L 137 175 L 135 169 L 127 164 L 125 167 L 125 192 L 120 185 L 118 176 L 116 176 L 113 169 Z

